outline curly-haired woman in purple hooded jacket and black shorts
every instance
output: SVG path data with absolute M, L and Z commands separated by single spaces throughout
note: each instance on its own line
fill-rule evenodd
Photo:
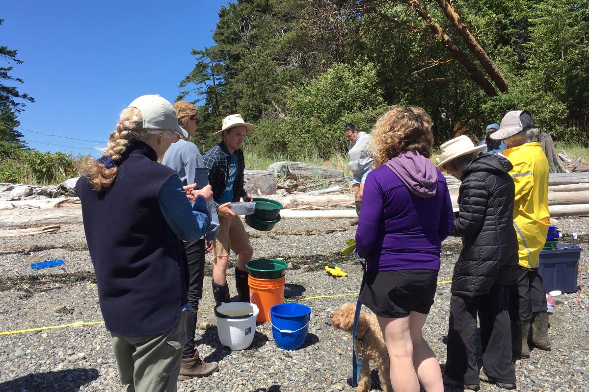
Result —
M 428 158 L 434 136 L 425 110 L 392 106 L 372 130 L 375 169 L 366 178 L 356 249 L 366 259 L 360 301 L 378 317 L 395 392 L 444 391 L 438 360 L 421 330 L 434 303 L 441 242 L 452 203 Z

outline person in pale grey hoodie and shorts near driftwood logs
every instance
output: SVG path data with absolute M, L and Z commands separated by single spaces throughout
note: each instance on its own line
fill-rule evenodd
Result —
M 354 199 L 356 200 L 356 214 L 360 216 L 364 183 L 373 163 L 372 156 L 366 150 L 370 141 L 370 135 L 366 132 L 360 132 L 352 123 L 346 123 L 343 135 L 350 142 L 348 146 L 348 167 L 353 175 L 352 187 L 354 190 Z M 350 220 L 350 225 L 358 225 L 358 218 Z

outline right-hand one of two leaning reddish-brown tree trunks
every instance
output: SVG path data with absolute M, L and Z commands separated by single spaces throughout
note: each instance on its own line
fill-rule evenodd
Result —
M 442 8 L 444 15 L 446 15 L 446 19 L 448 19 L 458 34 L 462 37 L 466 46 L 468 46 L 468 49 L 471 50 L 472 54 L 481 63 L 482 68 L 487 71 L 489 78 L 495 82 L 495 85 L 497 85 L 501 92 L 507 92 L 509 90 L 509 83 L 505 80 L 497 66 L 491 61 L 491 58 L 489 58 L 485 49 L 479 45 L 477 39 L 472 35 L 464 22 L 462 22 L 460 15 L 458 15 L 452 4 L 447 0 L 436 0 L 436 3 Z

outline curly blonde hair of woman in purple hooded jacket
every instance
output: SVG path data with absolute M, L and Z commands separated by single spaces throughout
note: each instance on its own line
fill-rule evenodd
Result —
M 429 158 L 433 146 L 432 119 L 417 106 L 391 106 L 370 132 L 369 150 L 375 168 L 403 151 L 415 150 Z

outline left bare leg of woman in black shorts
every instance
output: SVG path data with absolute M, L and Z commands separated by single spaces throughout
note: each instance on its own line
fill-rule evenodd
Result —
M 409 317 L 389 319 L 377 316 L 389 353 L 391 385 L 395 392 L 419 392 L 419 381 L 413 367 Z

